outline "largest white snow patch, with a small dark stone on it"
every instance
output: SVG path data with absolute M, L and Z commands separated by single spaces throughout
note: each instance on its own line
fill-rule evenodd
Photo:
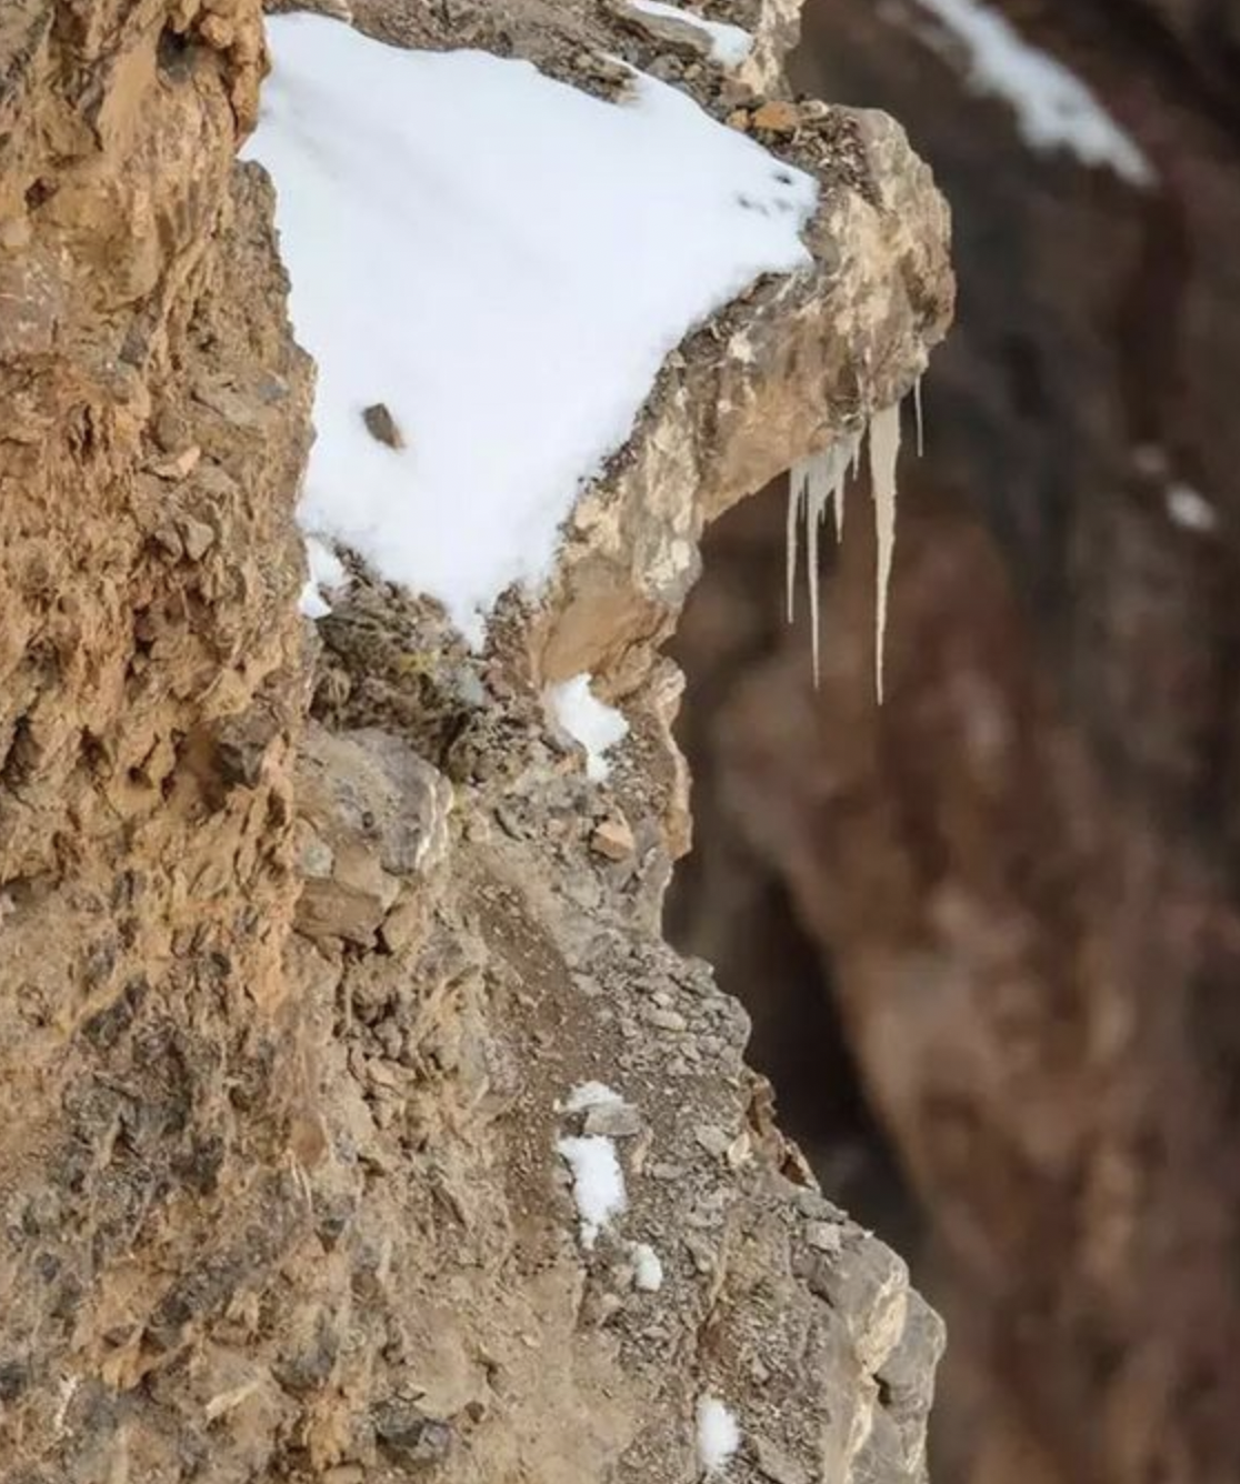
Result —
M 272 172 L 319 364 L 300 518 L 441 600 L 472 643 L 685 334 L 809 266 L 814 180 L 639 73 L 604 102 L 484 52 L 267 22 L 247 156 Z M 405 447 L 362 421 L 385 404 Z

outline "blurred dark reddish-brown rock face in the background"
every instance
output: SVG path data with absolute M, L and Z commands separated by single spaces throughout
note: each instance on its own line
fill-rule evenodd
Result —
M 1237 148 L 1132 13 L 1042 6 L 1029 34 L 1135 134 L 1148 191 L 1032 154 L 919 7 L 812 12 L 802 77 L 893 108 L 955 212 L 888 700 L 851 537 L 812 693 L 774 491 L 707 546 L 679 650 L 698 841 L 728 841 L 682 941 L 726 963 L 763 883 L 792 893 L 946 1264 L 949 1401 L 980 1398 L 939 1472 L 988 1484 L 1240 1469 Z

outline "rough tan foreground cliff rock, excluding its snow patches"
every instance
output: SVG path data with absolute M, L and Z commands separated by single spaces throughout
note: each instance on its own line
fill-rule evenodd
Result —
M 604 91 L 664 55 L 584 4 L 353 9 Z M 723 10 L 777 91 L 792 7 Z M 249 0 L 0 18 L 0 1478 L 689 1481 L 714 1393 L 737 1480 L 918 1480 L 942 1325 L 661 938 L 653 643 L 704 522 L 922 370 L 943 205 L 888 120 L 797 110 L 818 272 L 683 347 L 544 607 L 478 659 L 358 571 L 315 637 L 310 370 L 233 165 L 263 67 Z M 539 699 L 587 663 L 633 726 L 601 791 Z M 598 1126 L 587 1251 L 555 1144 Z

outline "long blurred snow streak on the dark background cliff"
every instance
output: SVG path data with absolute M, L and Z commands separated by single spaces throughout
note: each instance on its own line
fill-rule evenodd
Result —
M 1083 165 L 1112 169 L 1130 186 L 1149 187 L 1155 172 L 1093 92 L 1053 56 L 1031 46 L 979 0 L 918 0 L 968 55 L 968 83 L 1002 98 L 1025 142 L 1040 153 L 1066 150 Z

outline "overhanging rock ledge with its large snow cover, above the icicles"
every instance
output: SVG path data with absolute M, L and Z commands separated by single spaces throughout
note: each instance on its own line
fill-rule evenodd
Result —
M 399 27 L 370 3 L 358 24 L 385 40 L 499 45 L 484 19 L 446 36 L 422 7 Z M 541 594 L 521 619 L 535 680 L 590 671 L 613 696 L 668 634 L 704 524 L 897 402 L 953 285 L 946 206 L 887 116 L 763 107 L 722 73 L 634 79 L 615 58 L 650 62 L 649 46 L 612 7 L 588 9 L 557 13 L 563 34 L 505 12 L 545 76 L 279 19 L 254 151 L 288 174 L 294 318 L 321 359 L 303 519 L 441 598 L 475 643 L 500 589 Z M 778 33 L 781 56 L 796 9 L 729 16 L 759 43 Z M 625 86 L 636 93 L 616 102 Z M 398 125 L 383 122 L 385 93 Z M 670 157 L 652 174 L 637 144 Z M 345 162 L 370 183 L 358 209 L 331 187 Z M 298 292 L 342 258 L 365 269 Z M 500 267 L 511 292 L 497 295 Z M 342 335 L 359 316 L 361 335 Z M 402 447 L 368 430 L 371 402 Z

